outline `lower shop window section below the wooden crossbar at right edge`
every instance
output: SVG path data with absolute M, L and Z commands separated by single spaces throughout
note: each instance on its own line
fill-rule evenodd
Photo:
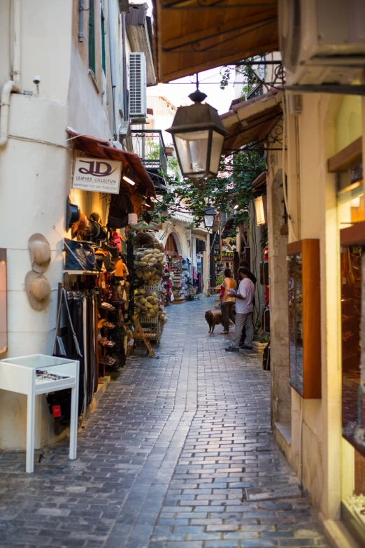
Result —
M 343 519 L 365 542 L 365 222 L 341 230 L 341 346 L 343 438 L 354 448 L 350 496 Z M 364 239 L 361 245 L 359 239 Z M 354 242 L 354 245 L 351 243 Z M 352 462 L 351 462 L 352 461 Z

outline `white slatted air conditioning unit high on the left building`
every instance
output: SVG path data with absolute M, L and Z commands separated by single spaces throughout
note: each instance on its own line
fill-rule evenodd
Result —
M 129 116 L 147 117 L 146 66 L 143 52 L 129 53 Z

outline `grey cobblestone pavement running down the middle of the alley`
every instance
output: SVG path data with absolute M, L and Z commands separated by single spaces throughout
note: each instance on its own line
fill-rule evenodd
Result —
M 169 309 L 160 359 L 129 361 L 78 437 L 0 454 L 0 547 L 326 547 L 270 428 L 270 373 L 208 335 L 213 298 Z M 39 459 L 37 459 L 39 460 Z

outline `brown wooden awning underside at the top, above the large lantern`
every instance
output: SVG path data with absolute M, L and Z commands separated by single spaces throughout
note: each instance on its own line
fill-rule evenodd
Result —
M 153 0 L 159 82 L 278 50 L 273 0 Z

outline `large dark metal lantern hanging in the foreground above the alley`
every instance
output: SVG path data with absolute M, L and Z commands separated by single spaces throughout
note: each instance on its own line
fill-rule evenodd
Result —
M 183 177 L 210 178 L 217 176 L 224 136 L 227 135 L 220 115 L 213 106 L 201 104 L 206 94 L 198 89 L 189 94 L 193 105 L 180 106 L 167 129 L 173 136 Z

